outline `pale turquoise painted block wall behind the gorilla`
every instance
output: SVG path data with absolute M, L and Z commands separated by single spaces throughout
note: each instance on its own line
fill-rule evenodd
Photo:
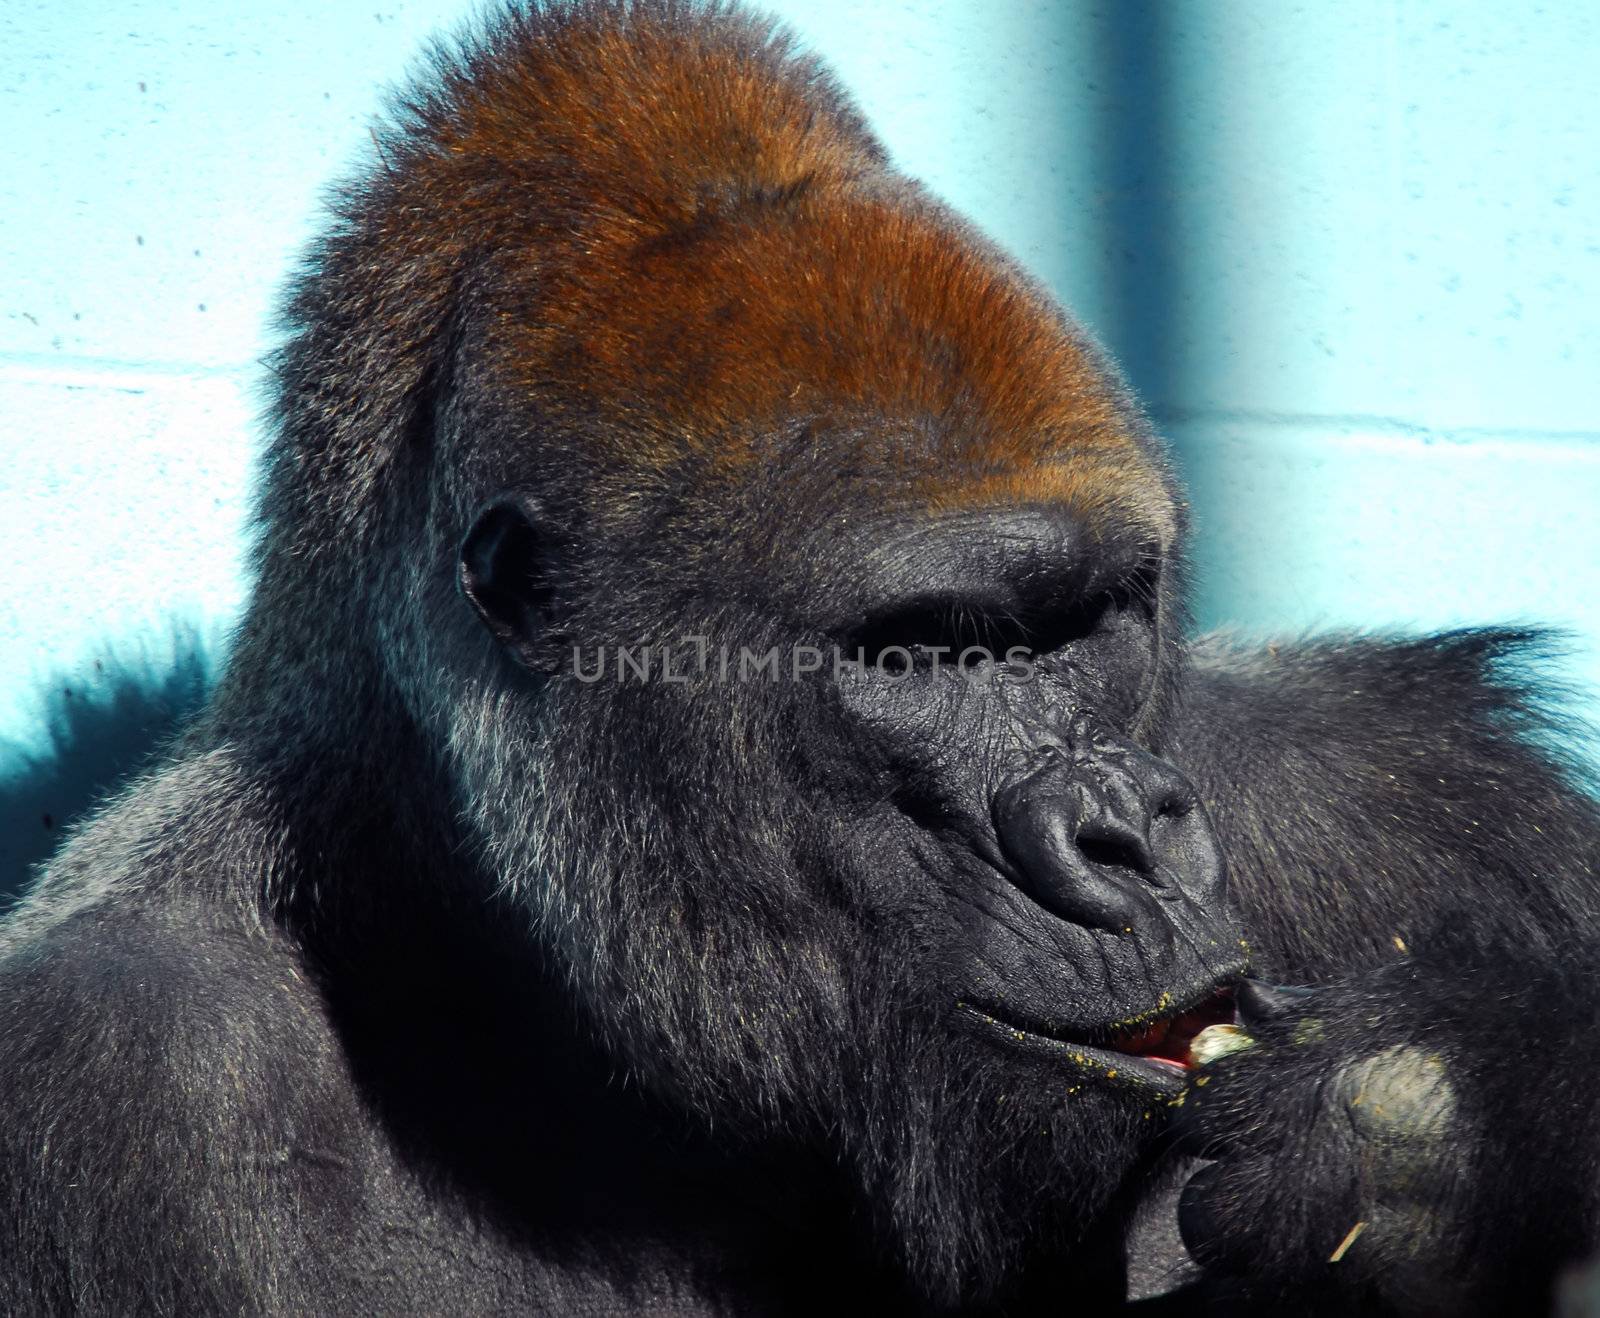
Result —
M 1206 622 L 1546 621 L 1600 678 L 1592 0 L 771 8 L 1126 365 Z M 203 686 L 274 291 L 461 13 L 0 10 L 0 885 Z

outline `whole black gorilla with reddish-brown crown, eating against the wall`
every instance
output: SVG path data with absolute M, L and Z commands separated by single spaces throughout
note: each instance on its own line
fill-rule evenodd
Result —
M 1194 637 L 1115 368 L 766 21 L 435 51 L 274 389 L 214 696 L 0 934 L 5 1312 L 1526 1313 L 1595 1246 L 1539 638 Z

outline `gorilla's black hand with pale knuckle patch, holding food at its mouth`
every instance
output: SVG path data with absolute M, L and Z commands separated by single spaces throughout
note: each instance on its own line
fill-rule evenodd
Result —
M 1510 1001 L 1413 963 L 1314 992 L 1246 985 L 1248 1046 L 1202 1065 L 1174 1108 L 1179 1145 L 1214 1160 L 1179 1203 L 1200 1292 L 1317 1296 L 1322 1313 L 1544 1312 L 1507 1288 L 1541 1275 L 1525 1265 L 1578 1227 L 1592 1187 L 1514 1163 L 1525 1124 L 1483 1118 L 1538 1092 L 1528 1059 L 1571 1056 L 1526 1035 L 1526 1014 L 1501 1028 Z M 1506 1195 L 1520 1220 L 1485 1222 Z

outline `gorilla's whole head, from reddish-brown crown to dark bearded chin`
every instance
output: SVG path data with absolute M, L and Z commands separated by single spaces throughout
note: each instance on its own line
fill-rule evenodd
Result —
M 1160 758 L 1160 446 L 766 24 L 589 3 L 434 74 L 291 306 L 235 672 L 357 745 L 394 693 L 440 881 L 928 1292 L 1059 1254 L 1243 958 Z

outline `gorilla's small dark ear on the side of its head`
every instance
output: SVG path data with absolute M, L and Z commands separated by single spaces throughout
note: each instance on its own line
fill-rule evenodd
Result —
M 483 625 L 528 669 L 550 667 L 555 555 L 531 499 L 507 496 L 483 512 L 461 544 L 461 593 Z

